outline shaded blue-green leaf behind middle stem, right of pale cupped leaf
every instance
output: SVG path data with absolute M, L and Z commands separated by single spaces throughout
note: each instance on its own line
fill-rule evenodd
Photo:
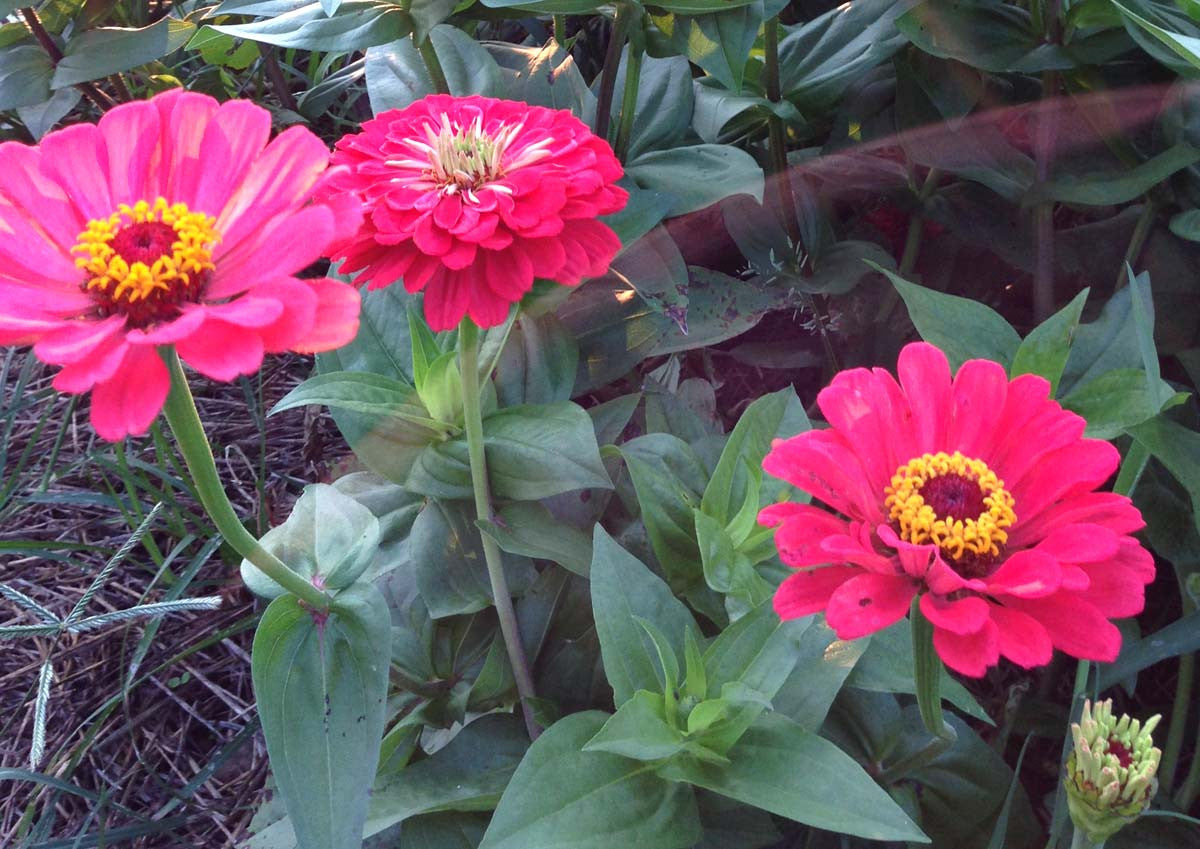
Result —
M 434 619 L 492 604 L 482 543 L 467 502 L 431 500 L 413 523 L 409 550 L 421 600 Z M 504 556 L 509 589 L 520 595 L 536 577 L 526 558 Z

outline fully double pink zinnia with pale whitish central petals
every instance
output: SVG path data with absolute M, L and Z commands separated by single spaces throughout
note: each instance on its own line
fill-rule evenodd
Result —
M 368 215 L 332 255 L 372 289 L 424 290 L 437 331 L 500 324 L 535 277 L 575 285 L 620 248 L 596 221 L 625 205 L 620 163 L 565 110 L 433 95 L 342 138 L 334 162 L 349 170 L 331 189 Z

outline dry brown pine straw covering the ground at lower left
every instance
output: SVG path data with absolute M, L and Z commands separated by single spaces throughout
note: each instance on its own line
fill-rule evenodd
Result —
M 262 373 L 263 408 L 270 409 L 311 368 L 311 360 L 305 357 L 270 357 Z M 12 407 L 18 372 L 8 372 L 4 409 Z M 48 369 L 36 373 L 26 393 L 47 392 L 49 379 Z M 200 380 L 193 384 L 193 391 L 240 516 L 258 517 L 266 525 L 278 522 L 305 482 L 325 476 L 323 445 L 337 439 L 336 430 L 323 416 L 289 411 L 271 419 L 266 429 L 268 474 L 260 494 L 256 483 L 264 442 L 256 416 L 247 409 L 246 392 L 238 384 Z M 53 405 L 49 426 L 38 430 L 47 404 Z M 55 457 L 58 424 L 68 414 Z M 44 401 L 17 415 L 4 478 L 14 472 L 16 458 L 30 441 L 35 442 L 34 462 L 22 474 L 17 502 L 0 513 L 0 543 L 10 543 L 10 549 L 13 541 L 30 540 L 64 546 L 58 552 L 49 547 L 44 553 L 16 555 L 0 549 L 0 582 L 65 616 L 108 556 L 130 536 L 131 522 L 112 502 L 94 499 L 108 492 L 104 477 L 119 494 L 125 494 L 113 466 L 103 463 L 106 458 L 109 463 L 120 458 L 112 446 L 95 440 L 86 422 L 86 402 L 72 411 L 67 398 L 48 392 Z M 150 439 L 130 440 L 126 457 L 131 462 L 160 462 Z M 50 458 L 58 476 L 50 478 L 43 495 L 37 495 Z M 187 508 L 197 510 L 186 494 L 175 494 Z M 154 504 L 146 493 L 138 500 L 143 510 Z M 151 534 L 154 544 L 164 554 L 180 542 L 164 530 L 169 512 L 160 514 L 157 530 Z M 178 528 L 172 530 L 180 532 Z M 203 536 L 196 526 L 185 532 L 198 531 Z M 175 574 L 197 556 L 204 542 L 197 538 L 186 547 L 172 564 Z M 66 550 L 73 543 L 91 548 Z M 23 638 L 0 645 L 0 770 L 8 770 L 0 772 L 0 778 L 7 779 L 0 781 L 0 847 L 70 847 L 77 836 L 90 835 L 90 841 L 85 838 L 78 845 L 217 849 L 233 847 L 245 837 L 262 799 L 268 765 L 262 734 L 257 731 L 250 678 L 250 646 L 258 610 L 241 589 L 235 564 L 222 550 L 199 567 L 185 597 L 220 595 L 222 607 L 212 613 L 163 619 L 138 667 L 142 680 L 124 697 L 124 682 L 146 628 L 144 621 L 68 634 L 56 644 L 52 638 Z M 89 613 L 162 600 L 167 585 L 155 582 L 156 571 L 145 547 L 133 549 L 92 601 Z M 36 621 L 0 600 L 0 625 Z M 55 676 L 47 754 L 38 771 L 65 782 L 73 793 L 12 772 L 30 769 L 34 698 L 38 669 L 47 656 Z M 107 712 L 102 712 L 106 706 Z

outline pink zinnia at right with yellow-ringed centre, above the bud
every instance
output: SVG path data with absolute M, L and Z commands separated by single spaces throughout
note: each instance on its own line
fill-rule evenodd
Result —
M 971 360 L 950 379 L 924 343 L 900 353 L 900 381 L 854 368 L 817 397 L 829 422 L 776 441 L 763 468 L 836 513 L 776 504 L 758 514 L 796 567 L 775 594 L 793 619 L 824 610 L 842 639 L 904 618 L 914 595 L 952 669 L 983 675 L 1055 648 L 1112 661 L 1109 619 L 1142 609 L 1154 561 L 1129 534 L 1128 498 L 1094 489 L 1116 470 L 1110 444 L 1050 384 Z

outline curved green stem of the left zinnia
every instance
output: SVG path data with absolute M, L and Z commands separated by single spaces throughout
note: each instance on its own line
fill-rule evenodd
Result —
M 216 525 L 217 532 L 234 547 L 238 554 L 254 564 L 259 571 L 284 590 L 314 610 L 328 610 L 329 596 L 263 548 L 254 535 L 241 524 L 233 505 L 229 504 L 224 487 L 221 486 L 217 464 L 212 459 L 212 447 L 204 434 L 200 415 L 196 411 L 196 402 L 192 399 L 192 390 L 187 385 L 187 375 L 184 374 L 179 355 L 175 354 L 174 349 L 170 349 L 166 359 L 167 368 L 170 372 L 170 392 L 167 395 L 167 403 L 163 404 L 163 413 L 172 433 L 175 434 L 179 453 L 182 454 L 187 471 L 196 484 L 196 494 L 209 518 L 212 519 L 212 524 Z

